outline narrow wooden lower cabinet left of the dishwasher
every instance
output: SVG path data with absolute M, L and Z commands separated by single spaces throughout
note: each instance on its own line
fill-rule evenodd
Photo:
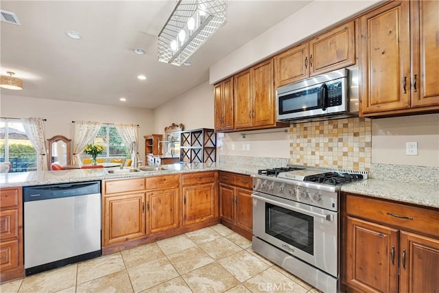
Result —
M 23 196 L 21 187 L 0 189 L 0 282 L 23 277 Z

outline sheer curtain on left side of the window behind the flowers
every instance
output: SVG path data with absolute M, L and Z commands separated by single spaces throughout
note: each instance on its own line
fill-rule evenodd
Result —
M 72 163 L 80 164 L 80 153 L 87 143 L 91 143 L 101 128 L 102 123 L 93 121 L 75 121 L 75 134 L 73 135 Z

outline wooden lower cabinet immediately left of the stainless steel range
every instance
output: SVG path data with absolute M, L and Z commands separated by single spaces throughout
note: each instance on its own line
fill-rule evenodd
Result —
M 219 172 L 219 215 L 222 224 L 251 239 L 252 237 L 252 178 Z

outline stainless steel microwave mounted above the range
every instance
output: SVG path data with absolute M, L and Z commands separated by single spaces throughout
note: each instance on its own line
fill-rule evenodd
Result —
M 276 98 L 277 121 L 301 122 L 357 116 L 357 70 L 339 69 L 281 86 L 277 89 Z

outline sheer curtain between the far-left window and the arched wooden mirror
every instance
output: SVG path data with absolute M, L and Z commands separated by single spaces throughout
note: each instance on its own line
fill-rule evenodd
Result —
M 36 150 L 36 170 L 47 171 L 47 150 L 44 121 L 40 118 L 21 118 L 27 138 Z

